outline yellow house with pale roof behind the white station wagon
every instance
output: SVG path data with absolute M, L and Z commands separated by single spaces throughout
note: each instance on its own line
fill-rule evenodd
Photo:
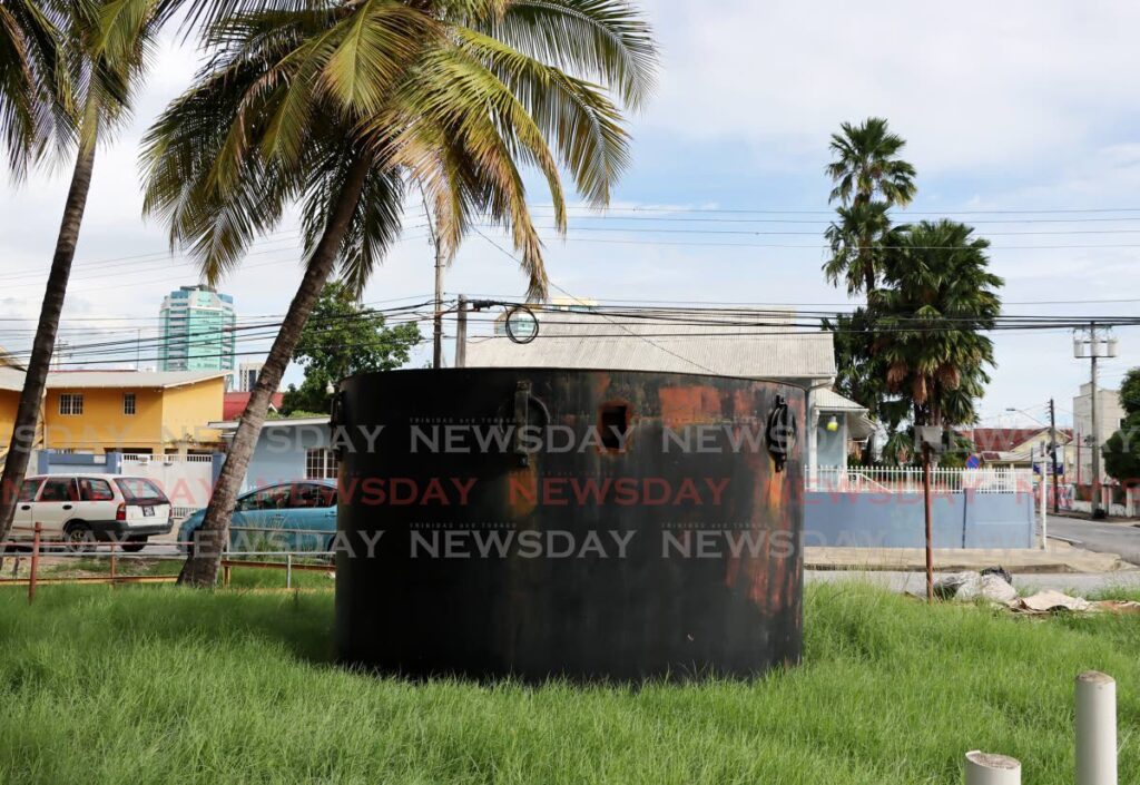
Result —
M 9 370 L 0 374 L 0 437 L 6 440 L 16 414 L 16 397 L 7 398 L 14 386 L 3 383 L 7 375 Z M 225 389 L 226 374 L 215 371 L 49 373 L 42 446 L 95 454 L 212 452 L 221 436 L 207 423 L 221 419 Z

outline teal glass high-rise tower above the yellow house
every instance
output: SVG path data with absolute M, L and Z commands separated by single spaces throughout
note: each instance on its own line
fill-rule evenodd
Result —
M 234 298 L 211 286 L 180 286 L 162 301 L 158 313 L 161 371 L 235 370 L 237 316 Z

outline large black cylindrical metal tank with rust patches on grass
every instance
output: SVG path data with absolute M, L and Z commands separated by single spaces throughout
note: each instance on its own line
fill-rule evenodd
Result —
M 454 369 L 353 377 L 336 403 L 342 662 L 524 680 L 798 662 L 803 389 Z

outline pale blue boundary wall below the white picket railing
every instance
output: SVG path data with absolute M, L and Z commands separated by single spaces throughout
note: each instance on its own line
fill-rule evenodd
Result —
M 935 548 L 1032 548 L 1033 494 L 936 494 L 931 529 Z M 922 494 L 809 491 L 804 499 L 804 544 L 922 548 Z

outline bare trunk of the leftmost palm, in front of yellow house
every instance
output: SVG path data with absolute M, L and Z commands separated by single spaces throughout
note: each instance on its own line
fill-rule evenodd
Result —
M 67 201 L 64 203 L 64 217 L 59 225 L 59 235 L 56 237 L 56 252 L 51 258 L 51 270 L 48 273 L 43 305 L 40 306 L 40 321 L 35 326 L 32 356 L 27 361 L 24 389 L 19 394 L 19 406 L 16 408 L 16 421 L 13 423 L 11 442 L 8 445 L 3 475 L 0 476 L 0 541 L 8 537 L 11 518 L 16 511 L 19 486 L 27 474 L 28 459 L 35 446 L 40 404 L 48 383 L 51 353 L 56 348 L 59 315 L 64 309 L 67 278 L 71 277 L 72 260 L 75 258 L 75 245 L 79 242 L 79 229 L 83 224 L 87 195 L 91 189 L 95 147 L 93 139 L 87 144 L 80 144 L 71 187 L 67 189 Z

